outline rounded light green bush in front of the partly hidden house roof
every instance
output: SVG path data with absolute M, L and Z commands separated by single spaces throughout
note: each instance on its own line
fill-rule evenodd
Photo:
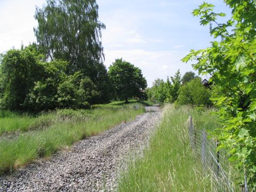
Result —
M 210 90 L 201 84 L 201 79 L 195 78 L 180 87 L 178 102 L 180 105 L 210 106 L 210 96 Z

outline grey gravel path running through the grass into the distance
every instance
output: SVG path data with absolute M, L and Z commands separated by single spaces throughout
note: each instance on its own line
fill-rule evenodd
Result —
M 49 161 L 0 177 L 0 191 L 115 190 L 118 170 L 125 169 L 128 157 L 147 145 L 161 113 L 155 106 L 146 110 L 150 113 L 79 141 Z

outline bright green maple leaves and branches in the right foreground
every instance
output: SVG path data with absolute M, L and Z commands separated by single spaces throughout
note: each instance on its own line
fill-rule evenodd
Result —
M 191 50 L 183 61 L 196 60 L 194 69 L 212 75 L 211 81 L 217 86 L 213 101 L 223 122 L 217 133 L 220 147 L 229 149 L 230 159 L 239 162 L 238 167 L 247 175 L 250 190 L 255 191 L 256 7 L 252 0 L 224 2 L 232 9 L 232 16 L 226 23 L 218 23 L 217 18 L 225 14 L 214 13 L 214 5 L 203 3 L 193 11 L 201 18 L 201 25 L 210 24 L 210 33 L 216 41 L 204 50 Z

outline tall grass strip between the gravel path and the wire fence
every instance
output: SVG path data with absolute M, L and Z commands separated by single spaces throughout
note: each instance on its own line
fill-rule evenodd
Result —
M 119 180 L 119 191 L 211 191 L 211 175 L 205 175 L 189 145 L 188 107 L 167 105 L 144 156 L 131 161 Z

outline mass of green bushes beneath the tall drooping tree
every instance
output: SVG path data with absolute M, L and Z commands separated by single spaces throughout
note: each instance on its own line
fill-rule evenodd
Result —
M 67 66 L 68 62 L 63 60 L 45 61 L 34 45 L 2 54 L 0 108 L 75 109 L 108 101 L 108 97 L 101 98 L 106 90 L 99 89 L 99 82 L 93 82 L 82 71 L 69 74 Z

